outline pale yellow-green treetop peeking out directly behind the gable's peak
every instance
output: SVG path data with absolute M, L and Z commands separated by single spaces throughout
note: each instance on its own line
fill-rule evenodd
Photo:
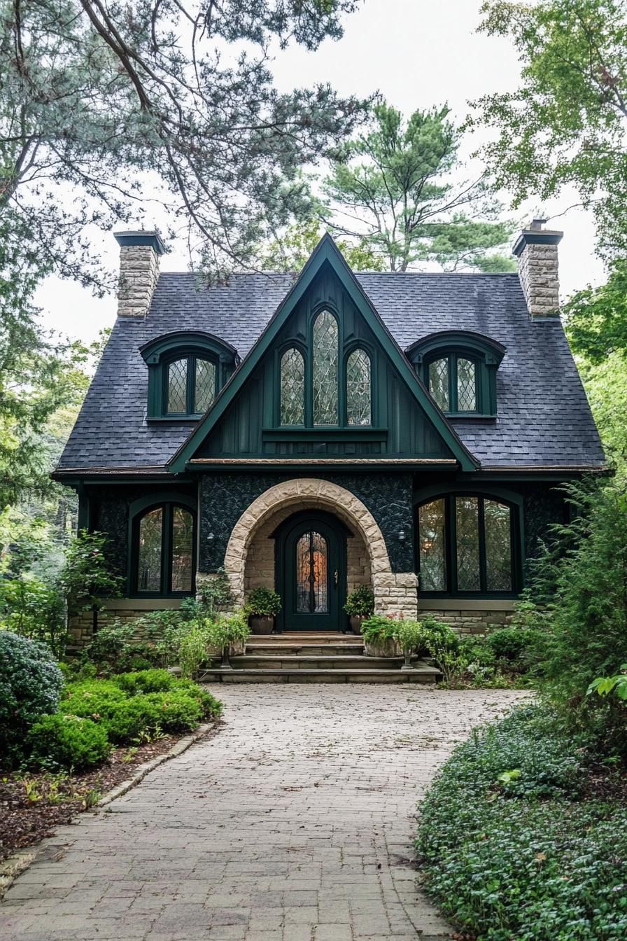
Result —
M 261 267 L 265 271 L 301 271 L 322 237 L 321 223 L 309 219 L 290 226 L 276 236 L 264 249 Z M 337 240 L 337 247 L 353 271 L 384 271 L 384 260 L 364 238 L 355 244 Z

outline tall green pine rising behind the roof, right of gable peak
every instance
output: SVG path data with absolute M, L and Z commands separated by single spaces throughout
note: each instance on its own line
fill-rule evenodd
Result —
M 512 227 L 496 221 L 501 206 L 485 180 L 455 183 L 460 132 L 448 108 L 400 111 L 377 104 L 366 134 L 349 141 L 323 183 L 321 218 L 331 231 L 368 243 L 391 271 L 415 262 L 449 269 L 509 271 L 494 252 Z

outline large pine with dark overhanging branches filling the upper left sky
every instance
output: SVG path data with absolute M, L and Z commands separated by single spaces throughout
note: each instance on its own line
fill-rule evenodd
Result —
M 363 114 L 328 85 L 279 93 L 269 47 L 337 39 L 357 4 L 0 0 L 0 219 L 41 266 L 100 289 L 86 227 L 150 202 L 214 277 L 253 266 L 267 226 L 307 208 L 298 168 Z

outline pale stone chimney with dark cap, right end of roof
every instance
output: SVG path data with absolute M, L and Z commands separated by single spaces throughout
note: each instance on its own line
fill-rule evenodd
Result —
M 557 245 L 563 232 L 543 229 L 546 219 L 533 219 L 512 251 L 518 258 L 518 277 L 532 320 L 559 315 Z

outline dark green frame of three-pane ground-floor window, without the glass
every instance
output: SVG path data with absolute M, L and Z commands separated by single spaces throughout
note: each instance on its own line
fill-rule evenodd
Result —
M 429 490 L 431 493 L 424 492 L 421 494 L 420 500 L 416 502 L 416 511 L 415 511 L 415 570 L 419 577 L 419 588 L 418 593 L 420 597 L 425 598 L 516 598 L 523 588 L 523 556 L 524 556 L 524 543 L 523 543 L 523 519 L 522 519 L 522 500 L 514 499 L 510 500 L 505 498 L 501 493 L 494 492 L 488 489 L 451 489 L 446 492 L 437 492 L 435 487 L 430 487 Z M 477 551 L 477 572 L 476 575 L 476 588 L 460 586 L 460 541 L 458 539 L 458 530 L 460 526 L 460 509 L 471 509 L 472 502 L 476 502 L 477 506 L 477 539 L 476 539 L 476 551 Z M 465 503 L 465 507 L 464 507 Z M 436 504 L 439 504 L 436 506 Z M 488 518 L 490 514 L 493 514 L 494 519 L 494 509 L 493 507 L 501 506 L 509 510 L 509 542 L 508 542 L 508 552 L 509 552 L 509 577 L 510 577 L 510 586 L 507 589 L 494 589 L 493 584 L 490 584 L 490 579 L 495 579 L 497 573 L 495 568 L 492 574 L 489 573 L 489 551 L 490 542 L 494 542 L 494 525 L 490 525 L 489 521 L 486 521 L 486 504 L 488 509 Z M 429 506 L 433 506 L 433 515 L 431 518 L 431 537 L 429 537 L 430 550 L 436 547 L 438 534 L 433 532 L 435 528 L 433 525 L 433 520 L 436 521 L 436 525 L 441 527 L 441 536 L 443 539 L 442 551 L 440 553 L 439 549 L 437 554 L 440 554 L 442 563 L 444 566 L 444 578 L 440 580 L 442 587 L 435 589 L 426 588 L 420 581 L 420 570 L 421 570 L 421 554 L 423 547 L 423 537 L 425 534 L 422 532 L 421 527 L 421 511 L 425 510 Z M 438 521 L 438 513 L 443 513 L 442 522 Z M 462 524 L 462 525 L 465 525 Z M 469 547 L 469 540 L 475 541 L 474 533 L 471 533 L 468 529 L 466 532 L 459 536 L 460 539 L 464 540 L 465 550 L 474 550 L 474 547 Z M 437 561 L 437 559 L 436 559 Z M 433 581 L 435 581 L 433 579 Z

